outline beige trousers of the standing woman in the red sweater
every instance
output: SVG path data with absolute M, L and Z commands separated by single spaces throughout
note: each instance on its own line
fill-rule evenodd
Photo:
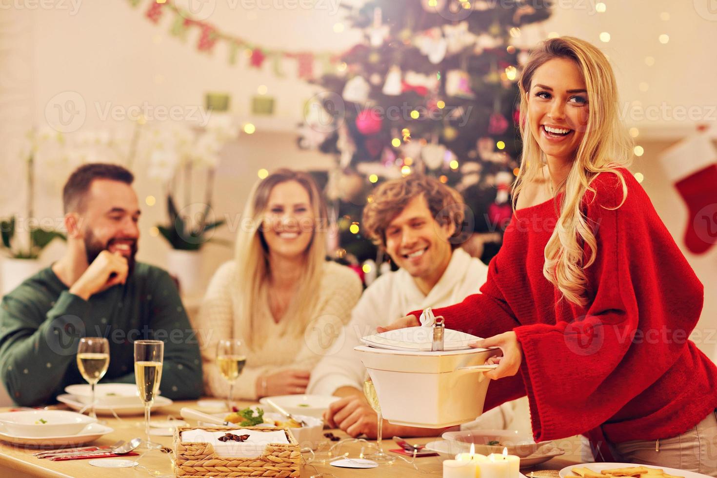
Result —
M 678 468 L 717 477 L 717 411 L 673 438 L 610 444 L 610 451 L 617 462 Z

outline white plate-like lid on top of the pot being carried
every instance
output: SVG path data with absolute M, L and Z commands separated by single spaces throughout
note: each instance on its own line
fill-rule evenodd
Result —
M 430 327 L 408 327 L 389 330 L 389 332 L 362 337 L 361 342 L 371 347 L 387 348 L 389 350 L 430 351 L 432 330 Z M 475 335 L 452 329 L 445 330 L 444 338 L 443 350 L 465 350 L 470 348 L 469 343 L 480 340 Z

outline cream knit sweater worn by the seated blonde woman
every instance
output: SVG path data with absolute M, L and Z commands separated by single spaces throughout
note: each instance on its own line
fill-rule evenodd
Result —
M 215 365 L 217 343 L 222 338 L 242 338 L 243 321 L 240 317 L 236 297 L 232 295 L 232 280 L 236 263 L 222 264 L 207 287 L 204 301 L 194 324 L 204 369 L 204 393 L 226 397 L 229 391 L 227 381 L 222 378 Z M 265 340 L 247 350 L 247 363 L 242 375 L 234 384 L 234 398 L 256 400 L 257 378 L 282 369 L 297 368 L 312 370 L 324 355 L 335 352 L 336 338 L 343 325 L 351 318 L 351 309 L 361 296 L 361 279 L 348 267 L 326 262 L 315 312 L 303 335 L 288 333 L 289 317 L 276 323 L 265 304 L 256 313 L 255 324 L 258 336 Z

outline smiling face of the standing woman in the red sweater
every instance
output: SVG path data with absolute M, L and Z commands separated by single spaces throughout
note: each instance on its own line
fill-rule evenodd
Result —
M 566 58 L 543 63 L 527 94 L 531 133 L 543 153 L 572 161 L 587 129 L 589 107 L 578 64 Z

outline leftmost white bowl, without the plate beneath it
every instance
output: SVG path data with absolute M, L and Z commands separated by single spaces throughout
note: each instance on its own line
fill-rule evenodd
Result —
M 24 437 L 71 436 L 79 434 L 97 419 L 66 410 L 9 411 L 0 414 L 9 434 Z

